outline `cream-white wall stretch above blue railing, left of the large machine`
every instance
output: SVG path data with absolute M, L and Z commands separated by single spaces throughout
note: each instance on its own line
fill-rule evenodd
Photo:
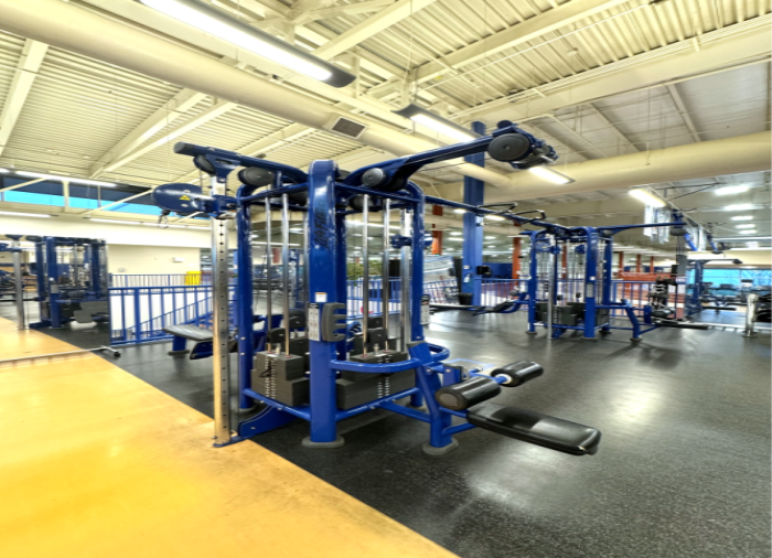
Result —
M 107 269 L 110 273 L 186 273 L 201 270 L 201 248 L 179 246 L 129 246 L 108 244 Z M 183 258 L 176 262 L 174 258 Z

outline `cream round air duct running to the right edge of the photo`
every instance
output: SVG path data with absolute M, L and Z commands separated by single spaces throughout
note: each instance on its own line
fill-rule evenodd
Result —
M 770 146 L 772 131 L 764 131 L 559 165 L 557 170 L 576 180 L 559 186 L 517 172 L 511 174 L 511 187 L 487 191 L 485 203 L 766 171 L 772 169 Z

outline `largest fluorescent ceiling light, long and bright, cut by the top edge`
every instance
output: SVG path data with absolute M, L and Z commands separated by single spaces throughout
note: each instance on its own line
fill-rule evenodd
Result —
M 345 87 L 356 78 L 354 75 L 302 49 L 286 43 L 259 29 L 255 29 L 199 0 L 140 1 L 144 6 L 196 28 L 204 33 L 287 66 L 294 72 L 325 82 L 333 87 Z

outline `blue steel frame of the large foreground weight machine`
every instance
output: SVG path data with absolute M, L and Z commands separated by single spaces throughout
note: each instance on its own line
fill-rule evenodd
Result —
M 249 254 L 249 208 L 251 205 L 260 202 L 265 203 L 266 198 L 281 197 L 282 194 L 308 192 L 307 206 L 290 204 L 290 208 L 291 211 L 308 212 L 309 301 L 318 304 L 320 315 L 326 304 L 345 304 L 346 302 L 345 216 L 354 212 L 342 208 L 346 207 L 345 202 L 353 196 L 368 194 L 376 202 L 375 211 L 378 211 L 380 200 L 389 198 L 392 200 L 393 208 L 409 210 L 412 215 L 412 237 L 394 238 L 410 247 L 410 258 L 412 260 L 410 294 L 407 300 L 401 301 L 403 304 L 407 303 L 410 305 L 408 313 L 411 332 L 411 339 L 408 343 L 409 358 L 404 362 L 389 364 L 349 362 L 345 361 L 345 341 L 331 341 L 320 334 L 319 340 L 310 341 L 310 404 L 302 407 L 290 407 L 251 389 L 249 383 L 256 347 L 250 344 L 249 335 L 244 336 L 239 334 L 239 407 L 249 407 L 254 401 L 260 401 L 265 404 L 265 408 L 257 416 L 239 422 L 236 429 L 237 436 L 232 441 L 240 441 L 278 428 L 296 418 L 302 418 L 310 422 L 311 442 L 331 443 L 339 439 L 336 427 L 340 420 L 376 408 L 387 409 L 428 422 L 431 431 L 429 443 L 433 448 L 446 448 L 453 443 L 453 433 L 473 428 L 469 423 L 452 426 L 451 420 L 453 416 L 465 418 L 467 414 L 442 408 L 433 397 L 435 391 L 443 384 L 459 382 L 461 378 L 457 369 L 444 367 L 441 364 L 449 356 L 449 351 L 439 345 L 427 343 L 423 336 L 420 316 L 421 297 L 423 294 L 425 243 L 421 239 L 425 238 L 425 204 L 427 201 L 430 201 L 432 204 L 464 208 L 470 212 L 472 217 L 496 214 L 515 223 L 530 221 L 505 212 L 479 207 L 476 204 L 460 204 L 425 196 L 420 187 L 409 182 L 409 178 L 428 163 L 484 153 L 495 137 L 507 132 L 517 133 L 519 130 L 511 122 L 501 122 L 500 128 L 491 136 L 478 138 L 465 143 L 438 148 L 416 155 L 376 163 L 351 173 L 343 181 L 337 180 L 340 174 L 333 161 L 314 161 L 311 163 L 307 174 L 299 169 L 215 148 L 189 143 L 175 147 L 178 153 L 192 155 L 196 159 L 205 158 L 208 163 L 215 167 L 218 176 L 223 173 L 227 174 L 235 165 L 261 168 L 274 173 L 274 183 L 265 191 L 255 193 L 254 187 L 243 185 L 235 198 L 214 196 L 211 202 L 206 202 L 208 204 L 207 213 L 213 216 L 221 215 L 224 211 L 236 211 L 239 250 L 237 258 L 239 277 L 237 298 L 246 302 L 236 307 L 239 331 L 248 331 L 248 326 L 251 325 L 254 320 L 254 310 L 249 303 L 251 300 L 251 261 Z M 196 159 L 194 159 L 195 164 L 201 164 Z M 383 175 L 387 176 L 389 181 L 388 189 L 371 190 L 363 186 L 363 174 L 373 168 L 378 168 L 383 171 Z M 176 211 L 176 202 L 172 198 L 173 196 L 170 195 L 167 198 L 169 205 L 164 205 L 165 202 L 162 203 L 163 191 L 159 190 L 161 191 L 161 197 L 156 197 L 157 203 L 170 211 Z M 270 203 L 277 207 L 279 206 L 274 201 Z M 536 224 L 548 227 L 549 230 L 565 229 L 565 227 L 549 223 L 536 222 Z M 479 228 L 479 224 L 475 223 L 475 226 Z M 403 265 L 406 265 L 406 262 L 403 262 Z M 340 371 L 388 374 L 407 369 L 416 371 L 416 387 L 369 401 L 353 409 L 337 409 L 336 377 Z M 443 382 L 441 375 L 446 376 L 446 382 Z M 498 383 L 505 380 L 503 377 L 494 379 Z M 426 400 L 427 411 L 404 407 L 395 403 L 396 399 L 408 396 L 416 401 L 419 400 L 419 395 Z

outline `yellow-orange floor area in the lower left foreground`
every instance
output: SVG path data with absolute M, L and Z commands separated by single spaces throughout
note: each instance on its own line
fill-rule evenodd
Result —
M 7 358 L 47 343 L 0 322 Z M 454 556 L 256 443 L 212 448 L 211 419 L 98 356 L 0 368 L 0 428 L 3 558 Z

